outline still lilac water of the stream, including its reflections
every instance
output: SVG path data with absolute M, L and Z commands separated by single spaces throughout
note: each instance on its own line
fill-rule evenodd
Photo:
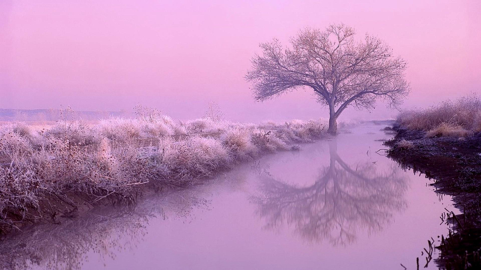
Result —
M 16 240 L 26 251 L 12 259 L 34 269 L 402 270 L 419 257 L 422 269 L 428 239 L 446 233 L 444 208 L 457 211 L 430 180 L 376 153 L 392 136 L 382 127 L 242 164 L 131 211 L 39 228 Z

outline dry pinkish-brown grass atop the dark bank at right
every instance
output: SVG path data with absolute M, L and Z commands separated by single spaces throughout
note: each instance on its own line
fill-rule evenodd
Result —
M 410 130 L 422 130 L 428 137 L 465 137 L 481 132 L 481 99 L 470 95 L 446 100 L 426 109 L 406 110 L 398 123 Z

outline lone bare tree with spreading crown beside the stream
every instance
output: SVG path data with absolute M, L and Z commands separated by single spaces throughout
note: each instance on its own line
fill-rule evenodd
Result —
M 378 98 L 395 107 L 409 93 L 405 61 L 377 37 L 354 40 L 354 29 L 329 25 L 324 31 L 301 30 L 284 49 L 277 39 L 260 45 L 245 78 L 257 100 L 311 87 L 317 101 L 329 107 L 329 133 L 348 106 L 370 110 Z

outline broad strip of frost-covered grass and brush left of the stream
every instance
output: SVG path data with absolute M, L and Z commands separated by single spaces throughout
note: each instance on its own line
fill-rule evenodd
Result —
M 190 184 L 269 152 L 298 149 L 325 122 L 231 123 L 165 115 L 51 126 L 0 125 L 0 233 L 38 221 L 49 200 L 131 203 L 140 186 Z M 72 199 L 75 197 L 76 199 Z M 51 205 L 50 205 L 51 209 Z

